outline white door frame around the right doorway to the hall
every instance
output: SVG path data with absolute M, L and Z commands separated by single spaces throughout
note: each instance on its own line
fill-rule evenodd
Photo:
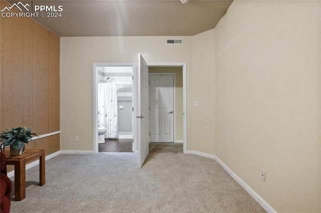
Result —
M 183 153 L 187 153 L 187 71 L 185 62 L 148 63 L 148 66 L 180 66 L 183 68 Z

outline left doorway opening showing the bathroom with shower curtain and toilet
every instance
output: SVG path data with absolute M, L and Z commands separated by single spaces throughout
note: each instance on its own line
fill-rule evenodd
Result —
M 95 70 L 98 152 L 133 152 L 132 63 L 99 63 Z M 94 126 L 95 129 L 95 126 Z

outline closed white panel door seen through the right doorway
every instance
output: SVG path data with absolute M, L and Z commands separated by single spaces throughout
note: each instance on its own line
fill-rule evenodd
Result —
M 150 142 L 174 142 L 174 75 L 149 75 Z

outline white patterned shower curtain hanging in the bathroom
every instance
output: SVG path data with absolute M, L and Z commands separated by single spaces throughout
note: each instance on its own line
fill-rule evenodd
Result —
M 116 83 L 98 83 L 98 127 L 107 127 L 105 138 L 118 135 Z

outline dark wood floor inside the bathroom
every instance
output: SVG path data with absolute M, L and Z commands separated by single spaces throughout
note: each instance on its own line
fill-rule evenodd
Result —
M 105 139 L 98 143 L 98 152 L 132 152 L 132 139 Z

